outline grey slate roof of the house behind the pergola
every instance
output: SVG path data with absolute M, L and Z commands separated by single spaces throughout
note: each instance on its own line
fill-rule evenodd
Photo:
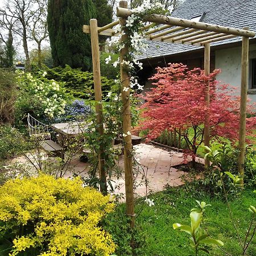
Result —
M 195 15 L 203 14 L 200 20 L 227 27 L 249 27 L 256 31 L 256 0 L 186 0 L 178 7 L 172 16 L 176 18 L 191 19 Z M 236 43 L 242 40 L 241 36 L 211 43 L 211 46 Z M 138 56 L 138 59 L 149 59 L 161 56 L 170 56 L 177 53 L 191 52 L 203 47 L 183 44 L 148 42 L 149 49 Z

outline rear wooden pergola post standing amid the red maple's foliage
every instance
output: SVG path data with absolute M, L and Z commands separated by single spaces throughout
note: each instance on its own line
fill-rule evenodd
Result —
M 209 76 L 210 74 L 210 44 L 204 45 L 204 73 L 205 76 Z M 210 86 L 209 81 L 207 81 L 206 89 L 205 89 L 205 104 L 207 108 L 210 106 Z M 204 121 L 204 144 L 205 146 L 210 146 L 210 117 L 209 117 L 209 111 L 207 111 L 207 114 L 205 116 Z M 205 167 L 208 167 L 210 162 L 208 159 L 205 159 Z

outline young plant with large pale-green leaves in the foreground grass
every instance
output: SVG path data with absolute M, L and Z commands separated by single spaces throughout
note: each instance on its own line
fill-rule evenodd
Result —
M 199 201 L 197 201 L 197 204 L 199 205 L 199 208 L 193 208 L 190 213 L 191 226 L 181 225 L 179 223 L 174 223 L 172 226 L 175 230 L 180 230 L 189 234 L 190 244 L 195 249 L 195 255 L 198 255 L 200 250 L 209 254 L 207 247 L 204 247 L 204 245 L 223 246 L 224 243 L 203 233 L 200 224 L 203 221 L 203 212 L 205 207 L 210 205 L 205 202 L 200 203 Z

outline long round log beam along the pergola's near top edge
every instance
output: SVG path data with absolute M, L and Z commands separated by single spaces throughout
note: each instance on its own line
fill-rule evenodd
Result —
M 117 8 L 118 17 L 127 18 L 127 16 L 130 16 L 131 14 L 133 14 L 132 10 L 128 10 L 120 7 Z M 158 14 L 152 14 L 150 16 L 147 16 L 147 18 L 145 18 L 144 21 L 154 22 L 158 24 L 168 24 L 172 26 L 196 28 L 197 30 L 213 31 L 213 32 L 224 33 L 227 35 L 246 36 L 250 38 L 254 38 L 255 36 L 255 32 L 253 31 L 240 30 L 238 28 L 232 28 L 232 27 L 218 26 L 215 24 L 209 24 L 204 22 L 195 22 L 189 19 L 180 19 L 180 18 L 174 18 L 172 16 L 164 16 L 164 15 L 158 15 Z

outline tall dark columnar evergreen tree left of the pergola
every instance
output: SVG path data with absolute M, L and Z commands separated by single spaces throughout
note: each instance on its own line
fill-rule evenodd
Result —
M 92 0 L 49 0 L 47 23 L 55 67 L 91 68 L 90 36 L 82 32 L 82 25 L 95 16 Z

